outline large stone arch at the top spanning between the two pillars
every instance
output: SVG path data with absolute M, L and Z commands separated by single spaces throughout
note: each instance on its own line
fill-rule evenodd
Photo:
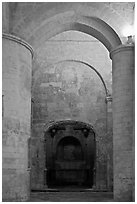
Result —
M 37 49 L 49 38 L 69 30 L 83 32 L 95 37 L 109 52 L 121 44 L 117 33 L 103 20 L 97 17 L 67 15 L 67 12 L 48 19 L 48 22 L 43 22 L 29 41 Z M 35 43 L 33 39 L 35 42 L 38 40 L 38 43 Z

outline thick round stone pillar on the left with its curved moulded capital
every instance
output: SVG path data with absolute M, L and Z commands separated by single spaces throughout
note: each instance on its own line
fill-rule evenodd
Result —
M 8 202 L 29 199 L 32 53 L 20 38 L 3 34 L 2 196 Z

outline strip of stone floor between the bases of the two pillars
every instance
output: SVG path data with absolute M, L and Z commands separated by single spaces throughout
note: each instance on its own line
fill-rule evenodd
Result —
M 29 202 L 113 202 L 110 192 L 31 192 Z

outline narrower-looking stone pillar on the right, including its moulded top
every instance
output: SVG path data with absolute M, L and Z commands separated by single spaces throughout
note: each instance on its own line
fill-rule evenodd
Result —
M 134 46 L 110 54 L 113 79 L 114 201 L 133 201 Z

